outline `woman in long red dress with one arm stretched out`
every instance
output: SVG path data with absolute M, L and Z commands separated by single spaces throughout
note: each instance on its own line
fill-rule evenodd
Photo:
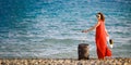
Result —
M 105 56 L 111 56 L 111 51 L 107 47 L 107 40 L 106 37 L 108 37 L 108 32 L 106 31 L 105 28 L 105 16 L 103 13 L 97 13 L 97 24 L 90 29 L 82 30 L 82 32 L 88 32 L 93 29 L 96 29 L 96 36 L 95 36 L 95 41 L 96 41 L 96 49 L 97 49 L 97 56 L 100 60 L 104 60 Z

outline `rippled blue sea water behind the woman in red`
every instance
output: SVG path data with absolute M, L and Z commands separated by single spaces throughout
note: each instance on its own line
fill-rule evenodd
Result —
M 130 0 L 0 0 L 0 58 L 78 58 L 78 44 L 97 57 L 95 30 L 103 12 L 114 39 L 112 56 L 131 57 Z M 83 41 L 85 40 L 85 41 Z

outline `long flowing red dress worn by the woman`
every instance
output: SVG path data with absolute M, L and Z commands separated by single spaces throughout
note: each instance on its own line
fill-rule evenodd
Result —
M 105 22 L 99 21 L 100 24 L 96 27 L 96 48 L 98 58 L 111 56 L 111 51 L 107 47 Z

